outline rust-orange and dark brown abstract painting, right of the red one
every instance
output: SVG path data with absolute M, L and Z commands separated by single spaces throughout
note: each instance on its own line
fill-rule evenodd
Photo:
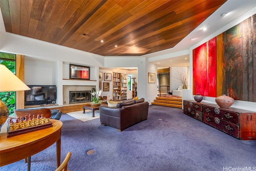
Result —
M 217 36 L 217 96 L 256 102 L 256 14 Z

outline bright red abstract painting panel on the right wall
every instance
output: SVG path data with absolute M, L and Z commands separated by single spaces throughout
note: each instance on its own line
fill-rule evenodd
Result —
M 216 37 L 193 50 L 193 94 L 216 97 Z

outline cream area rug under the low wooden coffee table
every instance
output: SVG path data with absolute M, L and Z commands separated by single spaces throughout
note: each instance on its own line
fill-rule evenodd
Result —
M 92 117 L 92 111 L 91 110 L 85 110 L 85 113 L 83 113 L 83 111 L 73 111 L 73 112 L 69 112 L 67 113 L 68 115 L 79 119 L 81 121 L 90 121 L 92 119 L 97 119 L 100 117 L 100 112 L 99 111 L 95 111 L 94 112 L 94 117 Z

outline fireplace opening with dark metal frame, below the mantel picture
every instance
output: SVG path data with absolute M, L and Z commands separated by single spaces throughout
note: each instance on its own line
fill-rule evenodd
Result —
M 69 103 L 91 101 L 91 91 L 69 91 Z

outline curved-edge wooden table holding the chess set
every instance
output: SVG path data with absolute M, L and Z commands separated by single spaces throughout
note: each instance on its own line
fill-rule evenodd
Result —
M 50 119 L 53 127 L 32 131 L 13 137 L 7 137 L 7 125 L 0 131 L 0 166 L 28 158 L 56 142 L 57 167 L 60 166 L 60 142 L 62 121 Z

